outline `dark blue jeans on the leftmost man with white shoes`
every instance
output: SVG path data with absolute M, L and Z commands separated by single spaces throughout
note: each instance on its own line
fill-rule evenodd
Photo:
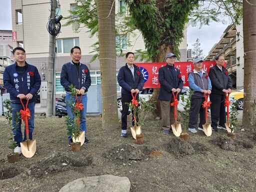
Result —
M 30 110 L 30 115 L 31 115 L 31 117 L 28 119 L 28 132 L 29 132 L 29 139 L 30 140 L 32 140 L 32 132 L 33 132 L 33 129 L 34 129 L 34 105 L 35 105 L 35 102 L 28 102 L 28 105 L 27 105 L 27 108 Z M 12 107 L 13 138 L 14 138 L 14 141 L 17 142 L 17 145 L 20 146 L 20 142 L 26 140 L 26 131 L 24 129 L 24 138 L 22 138 L 21 119 L 17 118 L 18 117 L 17 112 L 19 112 L 20 109 L 23 110 L 23 106 L 22 106 L 21 103 L 11 103 L 11 107 Z M 16 123 L 16 120 L 17 120 L 17 123 Z M 16 124 L 16 127 L 14 127 L 15 124 Z

